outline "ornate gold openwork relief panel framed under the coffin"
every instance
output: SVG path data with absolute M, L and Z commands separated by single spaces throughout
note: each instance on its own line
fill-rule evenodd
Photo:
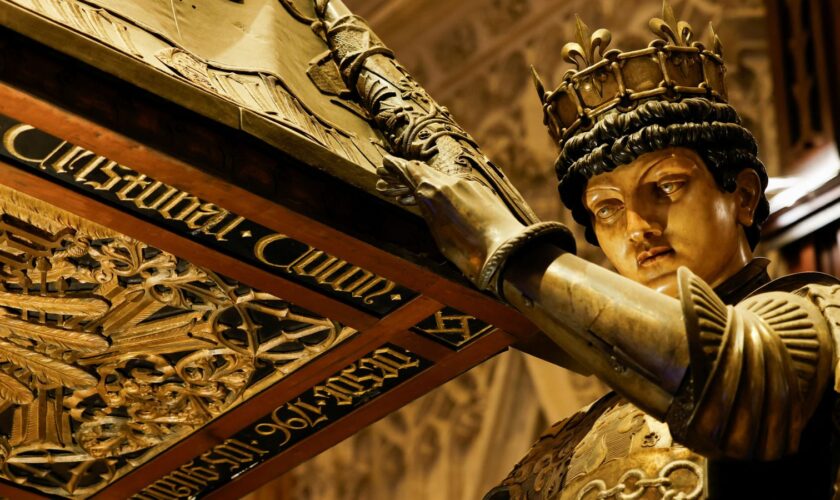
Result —
M 353 333 L 0 187 L 2 476 L 87 496 Z

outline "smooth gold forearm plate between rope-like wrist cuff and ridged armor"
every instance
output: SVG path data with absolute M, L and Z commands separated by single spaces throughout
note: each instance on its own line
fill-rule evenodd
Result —
M 509 266 L 504 295 L 611 387 L 664 418 L 688 366 L 676 300 L 548 245 Z

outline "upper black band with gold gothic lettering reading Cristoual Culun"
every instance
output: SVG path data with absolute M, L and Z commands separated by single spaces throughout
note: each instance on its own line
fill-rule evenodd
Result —
M 417 293 L 186 191 L 0 115 L 0 155 L 159 226 L 384 316 Z

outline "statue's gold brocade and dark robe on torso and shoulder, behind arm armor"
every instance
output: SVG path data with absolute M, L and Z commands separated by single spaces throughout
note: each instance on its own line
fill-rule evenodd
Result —
M 754 260 L 715 292 L 728 304 L 771 290 L 805 295 L 825 316 L 836 344 L 840 282 L 818 273 L 770 282 L 766 266 L 765 259 Z M 484 500 L 840 499 L 837 387 L 825 391 L 798 451 L 766 462 L 708 459 L 674 441 L 667 424 L 610 393 L 554 424 Z

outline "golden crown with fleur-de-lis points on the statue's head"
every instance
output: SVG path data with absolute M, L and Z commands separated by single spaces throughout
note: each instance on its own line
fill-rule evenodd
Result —
M 658 38 L 647 48 L 607 51 L 612 34 L 605 29 L 590 33 L 577 18 L 578 41 L 567 43 L 561 54 L 577 70 L 567 71 L 563 83 L 554 92 L 546 92 L 531 68 L 545 124 L 561 148 L 572 135 L 589 128 L 605 113 L 628 111 L 651 98 L 678 101 L 706 97 L 726 102 L 723 49 L 711 23 L 712 50 L 691 40 L 691 26 L 677 21 L 667 0 L 662 19 L 655 17 L 648 26 Z

